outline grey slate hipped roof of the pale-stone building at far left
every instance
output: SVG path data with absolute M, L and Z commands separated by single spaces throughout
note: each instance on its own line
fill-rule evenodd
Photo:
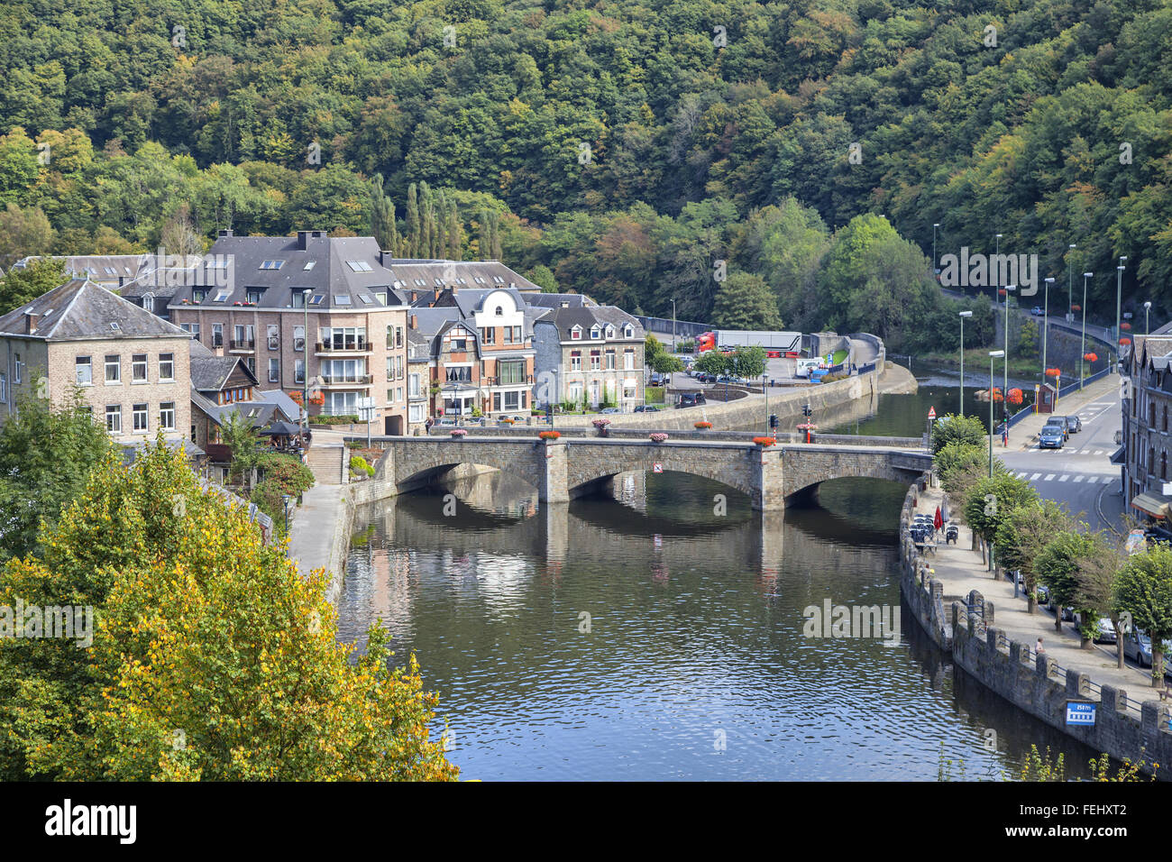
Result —
M 36 314 L 36 330 L 26 332 L 26 314 Z M 166 323 L 93 281 L 75 278 L 0 317 L 0 334 L 82 340 L 111 338 L 190 338 Z

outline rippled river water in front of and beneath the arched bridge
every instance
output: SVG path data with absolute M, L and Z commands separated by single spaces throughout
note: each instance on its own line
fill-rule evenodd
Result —
M 461 480 L 370 508 L 341 638 L 381 618 L 396 661 L 416 652 L 465 778 L 935 780 L 941 749 L 983 778 L 1034 740 L 1077 767 L 1083 749 L 954 685 L 906 611 L 901 640 L 803 637 L 827 598 L 899 606 L 902 493 L 839 480 L 783 516 L 683 474 L 561 504 Z

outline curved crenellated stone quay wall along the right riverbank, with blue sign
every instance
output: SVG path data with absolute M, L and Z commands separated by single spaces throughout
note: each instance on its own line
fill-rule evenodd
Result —
M 925 473 L 921 482 L 929 481 L 929 476 Z M 1095 752 L 1143 763 L 1147 773 L 1152 763 L 1158 763 L 1157 778 L 1166 779 L 1166 765 L 1172 762 L 1167 705 L 1159 700 L 1137 704 L 1129 700 L 1125 690 L 1098 686 L 1089 674 L 1063 670 L 1052 658 L 1035 654 L 1029 644 L 1009 639 L 995 625 L 993 602 L 976 590 L 963 602 L 945 604 L 943 584 L 932 577 L 931 565 L 912 541 L 915 494 L 913 484 L 899 520 L 900 590 L 936 646 L 950 653 L 954 665 L 1020 710 Z M 1096 704 L 1095 724 L 1068 725 L 1069 701 Z

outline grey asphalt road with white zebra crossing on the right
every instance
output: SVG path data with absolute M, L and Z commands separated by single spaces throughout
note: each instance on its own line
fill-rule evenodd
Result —
M 1038 449 L 1031 440 L 1047 419 L 1038 414 L 1010 432 L 1008 450 L 995 447 L 994 454 L 1043 497 L 1065 504 L 1071 515 L 1083 513 L 1092 530 L 1123 530 L 1119 467 L 1110 461 L 1119 448 L 1115 434 L 1123 423 L 1120 409 L 1118 378 L 1108 376 L 1063 399 L 1058 415 L 1077 415 L 1083 429 L 1062 449 Z

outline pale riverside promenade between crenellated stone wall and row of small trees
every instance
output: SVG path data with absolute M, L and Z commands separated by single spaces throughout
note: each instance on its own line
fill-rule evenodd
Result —
M 1090 387 L 1088 387 L 1090 388 Z M 928 488 L 919 495 L 917 513 L 934 515 L 936 507 L 942 504 L 943 490 Z M 955 523 L 955 522 L 954 522 Z M 1126 690 L 1132 703 L 1154 700 L 1157 694 L 1151 687 L 1151 671 L 1116 666 L 1115 644 L 1093 644 L 1092 649 L 1083 650 L 1081 638 L 1074 623 L 1063 623 L 1059 633 L 1054 627 L 1054 617 L 1036 609 L 1035 613 L 1026 612 L 1026 598 L 1014 598 L 1014 585 L 1001 578 L 994 579 L 993 572 L 986 570 L 981 562 L 981 552 L 970 550 L 972 530 L 958 523 L 960 537 L 956 544 L 941 544 L 935 557 L 925 557 L 931 565 L 933 576 L 943 584 L 945 608 L 950 608 L 953 600 L 966 600 L 970 590 L 979 591 L 987 602 L 994 605 L 993 625 L 1003 629 L 1011 640 L 1029 644 L 1033 658 L 1034 644 L 1041 637 L 1045 653 L 1065 670 L 1082 671 L 1090 676 L 1096 685 L 1119 686 Z M 1131 707 L 1138 714 L 1138 707 Z

